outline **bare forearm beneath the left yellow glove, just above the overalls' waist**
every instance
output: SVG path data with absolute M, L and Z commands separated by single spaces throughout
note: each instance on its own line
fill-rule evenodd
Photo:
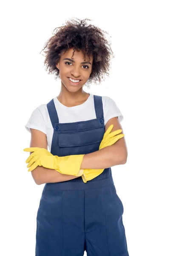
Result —
M 37 185 L 44 184 L 44 183 L 62 182 L 62 181 L 73 180 L 77 178 L 77 176 L 61 174 L 54 169 L 48 169 L 43 166 L 37 166 L 31 172 L 31 174 Z

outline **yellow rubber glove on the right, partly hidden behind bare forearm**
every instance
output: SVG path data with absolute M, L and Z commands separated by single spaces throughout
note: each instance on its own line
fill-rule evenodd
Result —
M 107 146 L 113 145 L 114 143 L 116 143 L 116 141 L 118 141 L 119 139 L 125 136 L 124 134 L 120 134 L 122 132 L 122 129 L 118 129 L 116 131 L 111 132 L 112 129 L 113 129 L 113 125 L 110 125 L 107 131 L 105 131 L 105 134 L 99 146 L 99 150 Z M 86 183 L 88 180 L 94 179 L 104 171 L 104 169 L 80 169 L 80 170 L 84 170 L 82 174 L 82 180 L 84 183 Z

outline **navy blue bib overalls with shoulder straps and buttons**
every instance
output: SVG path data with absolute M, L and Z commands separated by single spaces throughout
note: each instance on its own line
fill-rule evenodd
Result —
M 102 96 L 94 95 L 96 119 L 59 123 L 52 99 L 47 104 L 54 128 L 51 154 L 67 156 L 99 150 L 105 133 Z M 37 212 L 36 256 L 129 256 L 124 208 L 111 168 L 84 183 L 82 177 L 46 183 Z

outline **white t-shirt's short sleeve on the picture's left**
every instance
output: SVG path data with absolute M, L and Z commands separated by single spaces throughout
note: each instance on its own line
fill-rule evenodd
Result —
M 30 128 L 33 128 L 47 134 L 45 118 L 41 111 L 42 107 L 43 105 L 40 105 L 38 108 L 36 108 L 32 112 L 31 117 L 29 118 L 27 124 L 25 125 L 27 131 L 31 132 Z

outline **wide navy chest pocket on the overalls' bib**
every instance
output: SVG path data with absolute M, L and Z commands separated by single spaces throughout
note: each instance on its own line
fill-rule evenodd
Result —
M 94 145 L 99 150 L 99 145 L 105 133 L 104 127 L 86 128 L 79 131 L 59 131 L 59 147 L 85 147 Z M 96 144 L 96 145 L 95 145 Z

